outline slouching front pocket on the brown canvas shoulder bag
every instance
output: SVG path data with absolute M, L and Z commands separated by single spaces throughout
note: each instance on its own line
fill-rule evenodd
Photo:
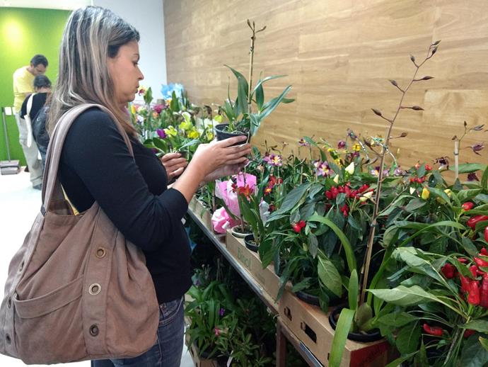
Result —
M 30 300 L 18 300 L 13 303 L 16 306 L 17 315 L 23 319 L 33 319 L 73 302 L 81 297 L 83 292 L 83 276 L 67 283 L 65 286 L 52 290 L 52 292 Z

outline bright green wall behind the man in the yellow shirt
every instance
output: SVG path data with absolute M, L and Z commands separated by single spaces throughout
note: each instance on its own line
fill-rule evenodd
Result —
M 35 54 L 47 57 L 46 75 L 54 84 L 58 50 L 69 11 L 0 7 L 0 106 L 13 105 L 12 74 L 28 65 Z M 12 159 L 25 165 L 13 116 L 6 117 Z M 0 121 L 1 124 L 1 121 Z M 0 128 L 0 160 L 7 159 L 4 128 Z

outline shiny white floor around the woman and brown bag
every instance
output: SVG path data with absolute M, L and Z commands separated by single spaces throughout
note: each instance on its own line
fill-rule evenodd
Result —
M 3 298 L 8 264 L 21 247 L 23 239 L 35 216 L 39 213 L 40 191 L 30 185 L 29 174 L 0 175 L 0 298 Z M 1 367 L 25 366 L 22 361 L 0 355 Z M 90 366 L 90 362 L 66 363 L 66 366 Z M 183 350 L 181 367 L 192 367 L 193 361 L 187 349 Z

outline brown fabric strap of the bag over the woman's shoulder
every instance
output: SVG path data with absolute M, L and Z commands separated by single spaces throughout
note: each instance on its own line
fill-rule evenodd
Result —
M 52 136 L 50 139 L 50 143 L 47 147 L 47 154 L 46 154 L 46 165 L 44 169 L 44 176 L 42 178 L 42 206 L 41 206 L 41 213 L 45 215 L 47 211 L 51 208 L 51 203 L 57 200 L 63 200 L 64 195 L 61 188 L 61 184 L 59 184 L 58 180 L 58 169 L 59 169 L 59 161 L 61 160 L 61 152 L 64 145 L 64 140 L 66 139 L 66 135 L 68 134 L 68 130 L 71 125 L 74 123 L 74 120 L 83 113 L 84 111 L 88 110 L 88 108 L 97 107 L 101 111 L 108 113 L 110 118 L 112 118 L 117 130 L 119 130 L 120 135 L 124 139 L 127 148 L 129 149 L 129 153 L 134 157 L 134 152 L 132 150 L 132 144 L 129 140 L 129 136 L 127 132 L 125 132 L 122 125 L 120 125 L 115 115 L 105 106 L 101 106 L 94 103 L 83 103 L 79 106 L 69 109 L 66 111 L 64 115 L 59 118 L 54 131 L 52 132 Z

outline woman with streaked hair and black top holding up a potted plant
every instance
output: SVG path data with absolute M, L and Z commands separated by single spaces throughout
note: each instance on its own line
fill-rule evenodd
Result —
M 144 79 L 138 42 L 139 32 L 112 11 L 86 6 L 71 13 L 48 114 L 52 131 L 71 108 L 103 105 L 122 125 L 134 151 L 132 157 L 110 115 L 93 107 L 69 128 L 59 164 L 59 181 L 76 210 L 82 213 L 98 203 L 122 235 L 144 252 L 159 303 L 152 348 L 135 358 L 92 361 L 95 367 L 180 366 L 183 295 L 192 285 L 190 244 L 181 220 L 200 184 L 238 173 L 250 154 L 245 136 L 201 144 L 190 162 L 175 154 L 164 165 L 144 147 L 127 111 Z M 233 147 L 236 143 L 240 146 Z M 168 185 L 175 172 L 178 179 Z

